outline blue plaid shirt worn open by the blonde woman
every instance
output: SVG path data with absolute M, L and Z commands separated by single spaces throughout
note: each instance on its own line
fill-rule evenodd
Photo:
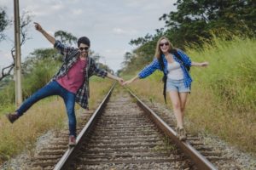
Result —
M 191 60 L 189 59 L 189 56 L 184 54 L 183 51 L 181 51 L 180 49 L 177 50 L 177 53 L 182 57 L 184 65 L 191 66 Z M 163 58 L 163 61 L 164 61 L 164 64 L 165 64 L 164 72 L 166 74 L 168 74 L 168 71 L 167 71 L 167 60 L 165 58 L 165 55 L 163 54 L 161 57 Z M 179 59 L 177 59 L 177 57 L 175 55 L 174 55 L 173 58 L 178 63 L 181 64 L 181 61 Z M 184 65 L 181 64 L 181 68 L 183 70 L 183 75 L 184 75 L 184 85 L 185 85 L 186 88 L 189 88 L 191 86 L 192 78 L 190 77 L 189 71 L 187 71 L 187 69 L 185 68 Z M 139 78 L 148 77 L 149 75 L 151 75 L 157 69 L 162 71 L 159 60 L 154 58 L 154 60 L 149 65 L 147 65 L 145 68 L 143 68 L 142 71 L 139 72 L 138 77 Z

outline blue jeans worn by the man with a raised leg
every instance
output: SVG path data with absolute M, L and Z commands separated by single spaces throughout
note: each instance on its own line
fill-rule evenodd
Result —
M 51 95 L 59 95 L 64 100 L 68 116 L 69 135 L 76 136 L 77 121 L 74 112 L 76 95 L 67 91 L 67 89 L 62 88 L 58 82 L 49 82 L 44 86 L 44 88 L 41 88 L 36 93 L 32 94 L 31 97 L 26 99 L 23 104 L 20 105 L 20 108 L 17 110 L 18 115 L 22 116 L 23 113 L 26 112 L 38 100 L 44 99 L 45 97 Z

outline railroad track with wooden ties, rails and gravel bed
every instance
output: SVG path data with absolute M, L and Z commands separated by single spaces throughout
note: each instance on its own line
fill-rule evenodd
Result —
M 179 141 L 173 119 L 113 88 L 89 121 L 79 121 L 77 146 L 67 150 L 67 134 L 60 134 L 34 159 L 34 169 L 230 169 L 196 137 Z

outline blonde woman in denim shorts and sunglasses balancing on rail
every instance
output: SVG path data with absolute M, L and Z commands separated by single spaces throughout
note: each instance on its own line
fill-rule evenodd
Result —
M 190 66 L 207 66 L 208 62 L 194 62 L 180 49 L 174 48 L 167 37 L 160 37 L 155 49 L 155 59 L 140 71 L 136 77 L 126 81 L 123 85 L 134 82 L 139 78 L 145 78 L 159 69 L 164 72 L 166 86 L 164 90 L 170 96 L 173 112 L 177 121 L 177 137 L 186 140 L 186 132 L 183 127 L 184 109 L 187 96 L 190 92 L 192 79 L 189 75 Z

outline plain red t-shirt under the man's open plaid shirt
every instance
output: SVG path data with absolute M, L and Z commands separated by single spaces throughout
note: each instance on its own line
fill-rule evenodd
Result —
M 78 59 L 64 77 L 57 80 L 69 92 L 76 94 L 84 82 L 84 68 L 87 59 Z

